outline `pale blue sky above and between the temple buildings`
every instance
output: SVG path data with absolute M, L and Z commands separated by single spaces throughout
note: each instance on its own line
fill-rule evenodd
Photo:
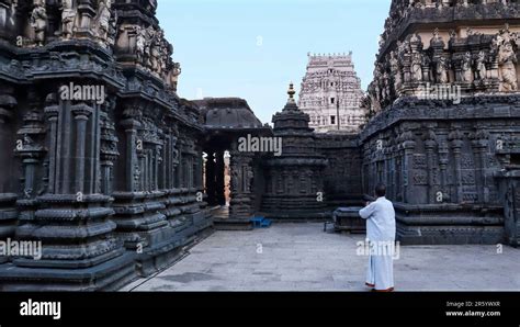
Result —
M 239 97 L 263 123 L 305 75 L 307 53 L 353 52 L 363 89 L 391 0 L 159 0 L 181 63 L 179 95 Z

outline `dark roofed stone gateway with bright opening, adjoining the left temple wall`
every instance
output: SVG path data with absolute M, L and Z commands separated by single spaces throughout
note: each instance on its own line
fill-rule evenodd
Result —
M 194 101 L 205 116 L 204 190 L 221 229 L 250 227 L 262 195 L 262 154 L 240 151 L 240 139 L 271 135 L 245 100 L 205 99 Z M 223 227 L 224 226 L 224 227 Z

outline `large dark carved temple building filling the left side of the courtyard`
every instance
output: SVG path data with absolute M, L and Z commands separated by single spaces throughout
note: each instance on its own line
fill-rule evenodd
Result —
M 1 2 L 0 239 L 43 246 L 0 258 L 1 291 L 117 289 L 211 226 L 156 5 Z

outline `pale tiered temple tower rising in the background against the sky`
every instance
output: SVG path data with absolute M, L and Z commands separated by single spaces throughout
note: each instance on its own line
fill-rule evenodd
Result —
M 298 105 L 316 133 L 358 133 L 366 115 L 362 98 L 352 53 L 308 55 Z

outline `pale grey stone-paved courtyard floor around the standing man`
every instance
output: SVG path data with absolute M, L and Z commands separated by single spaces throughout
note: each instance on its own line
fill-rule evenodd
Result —
M 323 224 L 216 232 L 166 271 L 123 291 L 366 291 L 362 235 Z M 520 291 L 520 249 L 407 246 L 395 261 L 397 291 Z

